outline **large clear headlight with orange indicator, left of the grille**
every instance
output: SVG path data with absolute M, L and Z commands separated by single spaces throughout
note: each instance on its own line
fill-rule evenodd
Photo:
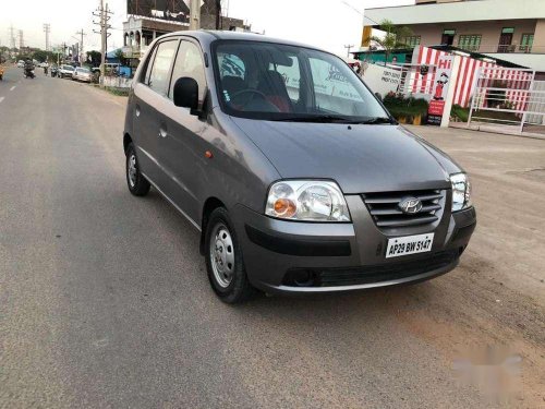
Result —
M 270 187 L 267 216 L 305 221 L 350 221 L 347 202 L 335 182 L 286 180 Z

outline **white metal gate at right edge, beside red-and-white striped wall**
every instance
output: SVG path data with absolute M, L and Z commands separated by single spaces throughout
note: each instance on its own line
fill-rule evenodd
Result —
M 469 128 L 486 124 L 504 133 L 545 134 L 545 84 L 535 71 L 482 68 L 472 93 Z

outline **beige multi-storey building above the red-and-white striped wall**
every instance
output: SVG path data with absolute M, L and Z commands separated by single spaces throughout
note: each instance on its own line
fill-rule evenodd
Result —
M 409 47 L 453 46 L 545 72 L 545 0 L 415 0 L 366 9 L 364 32 L 384 20 L 412 31 Z

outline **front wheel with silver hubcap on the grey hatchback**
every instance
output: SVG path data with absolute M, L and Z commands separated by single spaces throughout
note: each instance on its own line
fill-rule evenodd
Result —
M 211 288 L 221 301 L 237 304 L 255 293 L 247 279 L 237 232 L 223 207 L 210 214 L 206 226 L 205 260 Z

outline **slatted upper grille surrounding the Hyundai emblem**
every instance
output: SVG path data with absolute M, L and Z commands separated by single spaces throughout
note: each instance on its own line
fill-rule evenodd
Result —
M 365 193 L 362 195 L 377 227 L 407 227 L 427 225 L 439 219 L 444 206 L 445 191 L 417 190 L 403 192 Z M 398 204 L 408 197 L 420 199 L 422 209 L 405 214 Z

